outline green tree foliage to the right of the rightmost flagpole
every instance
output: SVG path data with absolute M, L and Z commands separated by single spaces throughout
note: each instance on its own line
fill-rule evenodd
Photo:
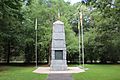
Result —
M 88 15 L 88 20 L 90 18 L 88 25 L 84 20 L 84 28 L 87 28 L 84 29 L 86 61 L 117 63 L 120 60 L 120 18 L 118 17 L 120 4 L 118 0 L 115 0 L 114 4 L 111 4 L 111 1 L 97 0 L 86 4 L 87 7 L 94 8 L 88 13 L 83 13 Z M 112 5 L 114 7 L 111 7 Z

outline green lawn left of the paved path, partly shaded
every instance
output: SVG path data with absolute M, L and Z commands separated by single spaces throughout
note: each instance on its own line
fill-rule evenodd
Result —
M 35 67 L 0 66 L 0 80 L 45 80 L 47 75 L 36 74 Z

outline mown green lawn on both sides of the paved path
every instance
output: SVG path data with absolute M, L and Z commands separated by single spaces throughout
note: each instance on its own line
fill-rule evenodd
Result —
M 75 65 L 70 65 L 75 66 Z M 72 74 L 74 80 L 120 80 L 120 65 L 86 65 L 84 73 Z M 45 80 L 48 75 L 36 74 L 32 66 L 0 66 L 0 80 Z

